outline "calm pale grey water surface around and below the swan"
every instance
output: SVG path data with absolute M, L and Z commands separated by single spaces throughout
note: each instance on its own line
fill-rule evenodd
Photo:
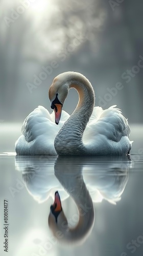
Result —
M 131 126 L 130 158 L 16 156 L 20 126 L 0 126 L 1 255 L 142 256 L 143 126 Z M 71 237 L 67 226 L 59 228 L 58 240 L 48 223 L 57 190 L 69 228 L 80 218 Z M 8 253 L 3 247 L 4 200 Z

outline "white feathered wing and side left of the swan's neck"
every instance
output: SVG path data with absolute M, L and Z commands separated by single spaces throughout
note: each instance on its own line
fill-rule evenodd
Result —
M 63 111 L 61 121 L 55 123 L 54 114 L 38 106 L 23 122 L 22 135 L 15 143 L 17 154 L 56 155 L 54 140 L 69 115 Z

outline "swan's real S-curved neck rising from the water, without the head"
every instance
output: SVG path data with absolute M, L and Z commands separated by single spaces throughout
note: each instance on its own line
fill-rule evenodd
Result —
M 82 75 L 73 75 L 68 80 L 70 88 L 78 91 L 79 102 L 56 136 L 54 144 L 58 155 L 83 155 L 87 153 L 82 136 L 94 108 L 94 91 L 91 83 Z

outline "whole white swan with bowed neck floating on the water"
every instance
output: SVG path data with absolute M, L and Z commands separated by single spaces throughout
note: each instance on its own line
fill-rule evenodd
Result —
M 62 105 L 70 88 L 78 91 L 79 102 L 68 118 Z M 94 91 L 85 76 L 76 72 L 58 75 L 50 87 L 49 98 L 56 124 L 60 127 L 53 122 L 53 114 L 50 115 L 42 106 L 38 107 L 23 123 L 22 135 L 15 145 L 17 154 L 129 154 L 132 141 L 128 138 L 130 127 L 127 119 L 115 105 L 107 110 L 94 107 Z

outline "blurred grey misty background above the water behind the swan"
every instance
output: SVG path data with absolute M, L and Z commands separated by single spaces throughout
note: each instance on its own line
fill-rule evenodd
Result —
M 1 0 L 1 122 L 22 122 L 65 71 L 84 74 L 103 109 L 142 123 L 141 0 Z M 142 66 L 142 67 L 141 67 Z M 46 71 L 45 71 L 46 70 Z M 78 102 L 70 90 L 63 109 Z

